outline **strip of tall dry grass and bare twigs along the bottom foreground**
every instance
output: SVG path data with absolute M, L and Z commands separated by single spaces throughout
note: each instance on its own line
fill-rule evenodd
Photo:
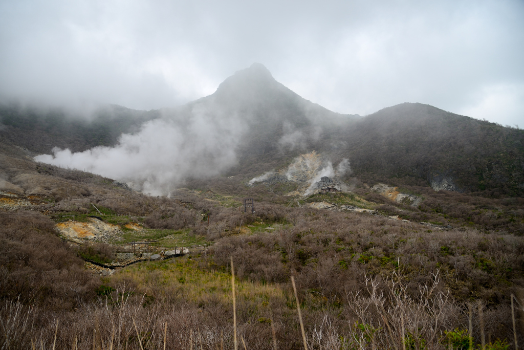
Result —
M 365 292 L 347 294 L 339 314 L 333 310 L 314 310 L 302 303 L 305 307 L 300 308 L 303 335 L 299 314 L 293 312 L 301 304 L 300 290 L 290 296 L 294 300 L 289 305 L 272 309 L 276 317 L 274 337 L 269 322 L 241 318 L 237 332 L 242 347 L 272 349 L 278 344 L 279 349 L 309 350 L 441 349 L 450 343 L 446 337 L 449 332 L 467 329 L 467 305 L 439 291 L 438 276 L 421 286 L 417 298 L 408 296 L 401 274 L 392 274 L 386 280 L 366 277 L 366 283 Z M 379 289 L 381 283 L 386 285 L 385 290 Z M 33 345 L 38 349 L 234 348 L 232 300 L 213 308 L 165 302 L 144 306 L 145 299 L 123 283 L 97 302 L 83 304 L 78 310 L 51 312 L 20 301 L 5 301 L 0 308 L 0 348 L 32 348 Z M 521 301 L 518 302 L 522 307 Z M 242 309 L 240 303 L 239 313 Z M 499 311 L 500 316 L 510 318 L 511 310 Z M 340 313 L 346 315 L 342 321 Z M 479 319 L 479 309 L 472 309 L 472 314 L 474 333 L 479 333 L 479 323 L 475 322 Z M 484 312 L 485 319 L 490 320 L 492 316 Z M 490 339 L 497 338 L 497 334 L 487 331 Z M 478 344 L 475 337 L 472 341 Z M 455 345 L 454 348 L 461 347 Z M 486 344 L 485 348 L 503 347 Z

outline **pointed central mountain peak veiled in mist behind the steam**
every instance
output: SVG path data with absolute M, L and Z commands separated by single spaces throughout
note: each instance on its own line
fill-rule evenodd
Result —
M 215 93 L 172 110 L 171 116 L 187 121 L 201 112 L 244 125 L 235 136 L 239 165 L 231 173 L 248 174 L 269 170 L 303 150 L 318 147 L 332 128 L 345 128 L 361 117 L 332 112 L 303 99 L 260 63 L 237 71 Z

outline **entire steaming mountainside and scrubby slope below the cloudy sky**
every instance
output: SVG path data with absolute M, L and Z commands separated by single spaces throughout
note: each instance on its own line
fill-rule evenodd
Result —
M 234 348 L 232 261 L 245 348 L 301 349 L 300 323 L 311 349 L 524 342 L 522 130 L 421 104 L 337 114 L 258 64 L 170 110 L 17 108 L 2 348 Z M 168 195 L 35 161 L 54 146 Z

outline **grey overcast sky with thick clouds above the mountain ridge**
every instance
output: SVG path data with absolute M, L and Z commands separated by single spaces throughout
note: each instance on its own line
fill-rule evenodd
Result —
M 263 63 L 312 102 L 524 127 L 524 1 L 0 0 L 0 97 L 152 109 Z

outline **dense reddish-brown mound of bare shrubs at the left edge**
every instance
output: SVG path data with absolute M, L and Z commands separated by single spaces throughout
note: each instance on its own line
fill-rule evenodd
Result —
M 97 284 L 53 222 L 35 212 L 0 212 L 0 265 L 2 300 L 70 309 L 92 298 Z

